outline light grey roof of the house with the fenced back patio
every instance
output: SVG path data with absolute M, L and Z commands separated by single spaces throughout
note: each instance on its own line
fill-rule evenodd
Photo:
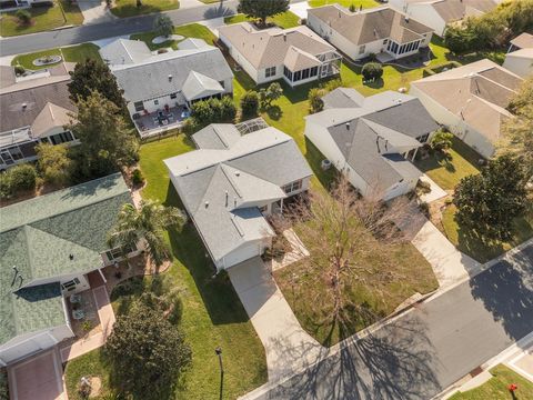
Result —
M 179 92 L 191 71 L 217 82 L 233 78 L 222 52 L 207 43 L 199 47 L 200 41 L 190 42 L 195 44 L 189 49 L 151 54 L 132 63 L 110 64 L 124 98 L 134 102 Z M 107 48 L 100 51 L 105 53 Z

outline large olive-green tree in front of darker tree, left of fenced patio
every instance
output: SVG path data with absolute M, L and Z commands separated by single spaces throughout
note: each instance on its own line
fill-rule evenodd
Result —
M 77 122 L 68 128 L 80 140 L 72 148 L 81 176 L 102 176 L 138 159 L 139 144 L 119 108 L 94 91 L 78 102 Z

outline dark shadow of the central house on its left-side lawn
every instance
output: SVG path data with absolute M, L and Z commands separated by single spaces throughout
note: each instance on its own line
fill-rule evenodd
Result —
M 183 209 L 170 181 L 167 199 L 172 201 L 170 206 Z M 228 273 L 221 272 L 214 276 L 214 264 L 192 221 L 187 222 L 181 230 L 169 231 L 169 238 L 172 256 L 189 270 L 194 279 L 213 324 L 247 322 L 249 317 Z

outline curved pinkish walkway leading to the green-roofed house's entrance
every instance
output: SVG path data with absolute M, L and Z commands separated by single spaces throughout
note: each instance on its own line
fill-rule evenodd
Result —
M 74 343 L 69 344 L 60 350 L 62 362 L 67 362 L 77 357 L 80 357 L 89 351 L 98 349 L 105 343 L 114 324 L 114 312 L 109 300 L 108 290 L 104 286 L 92 289 L 94 296 L 94 302 L 98 308 L 98 318 L 102 326 L 102 331 L 88 338 L 77 340 Z

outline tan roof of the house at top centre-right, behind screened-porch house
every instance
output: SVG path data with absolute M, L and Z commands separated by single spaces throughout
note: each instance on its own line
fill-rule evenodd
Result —
M 433 32 L 431 28 L 412 18 L 405 18 L 390 7 L 351 12 L 339 4 L 332 4 L 309 9 L 308 13 L 322 20 L 355 44 L 389 38 L 402 44 L 423 39 L 424 33 Z

